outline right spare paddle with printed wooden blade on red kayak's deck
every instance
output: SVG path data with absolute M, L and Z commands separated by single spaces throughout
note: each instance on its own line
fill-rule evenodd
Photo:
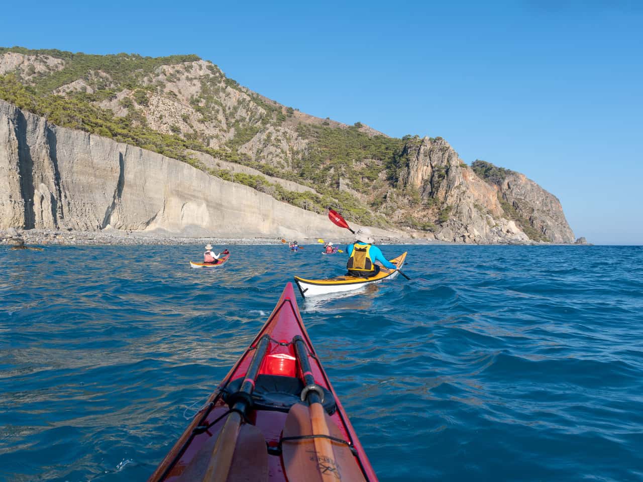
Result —
M 323 407 L 324 391 L 315 383 L 303 338 L 293 338 L 303 373 L 303 404 L 294 404 L 285 419 L 282 456 L 288 480 L 365 482 L 364 475 L 338 426 Z

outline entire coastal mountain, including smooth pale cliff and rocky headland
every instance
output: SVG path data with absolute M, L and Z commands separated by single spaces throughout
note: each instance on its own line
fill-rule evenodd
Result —
M 345 235 L 331 206 L 383 235 L 574 242 L 525 175 L 303 114 L 194 55 L 0 48 L 0 99 L 0 229 Z

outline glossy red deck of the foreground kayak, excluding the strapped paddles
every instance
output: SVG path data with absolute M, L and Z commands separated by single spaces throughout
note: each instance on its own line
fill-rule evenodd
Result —
M 262 330 L 215 392 L 208 398 L 204 408 L 197 413 L 185 433 L 152 474 L 149 482 L 186 482 L 195 479 L 196 474 L 204 472 L 210 461 L 217 435 L 226 420 L 226 413 L 229 411 L 226 398 L 232 400 L 232 394 L 239 390 L 251 365 L 255 348 L 264 339 L 264 335 L 269 335 L 269 345 L 255 380 L 255 393 L 252 396 L 253 409 L 249 410 L 246 415 L 249 424 L 260 430 L 267 443 L 269 454 L 267 457 L 267 480 L 285 482 L 288 480 L 289 470 L 296 470 L 289 466 L 289 462 L 284 462 L 280 440 L 284 436 L 285 422 L 291 408 L 301 405 L 307 409 L 307 406 L 300 402 L 304 374 L 294 350 L 294 339 L 297 335 L 302 337 L 305 344 L 308 353 L 307 360 L 314 381 L 325 393 L 323 407 L 334 425 L 331 427 L 331 422 L 329 422 L 331 432 L 337 434 L 341 440 L 348 442 L 352 451 L 350 458 L 354 458 L 356 461 L 356 467 L 359 467 L 363 479 L 377 480 L 349 418 L 318 361 L 303 326 L 293 286 L 288 283 Z M 309 443 L 311 441 L 302 440 L 300 442 Z M 287 444 L 291 443 L 293 442 Z M 284 442 L 284 447 L 285 445 Z M 308 445 L 305 447 L 307 449 Z M 339 467 L 341 470 L 341 465 Z M 200 478 L 196 479 L 201 480 Z M 311 480 L 313 479 L 311 478 Z M 298 479 L 291 479 L 291 482 L 295 480 Z

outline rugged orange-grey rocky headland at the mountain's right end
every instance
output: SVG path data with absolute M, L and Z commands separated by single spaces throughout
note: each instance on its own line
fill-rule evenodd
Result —
M 525 242 L 527 230 L 552 242 L 574 241 L 560 202 L 522 174 L 510 172 L 502 183 L 482 179 L 442 138 L 411 139 L 402 158 L 399 183 L 437 206 L 439 240 Z

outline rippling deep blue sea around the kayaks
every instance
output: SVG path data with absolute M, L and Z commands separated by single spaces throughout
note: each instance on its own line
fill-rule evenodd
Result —
M 643 248 L 385 245 L 306 301 L 381 481 L 643 480 Z M 319 245 L 0 250 L 0 481 L 144 481 Z

